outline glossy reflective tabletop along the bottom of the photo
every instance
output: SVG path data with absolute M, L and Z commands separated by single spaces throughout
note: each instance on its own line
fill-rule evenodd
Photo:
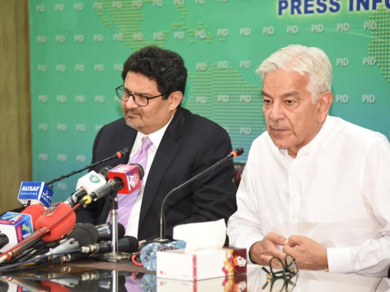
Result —
M 283 280 L 267 283 L 267 273 L 258 265 L 248 265 L 247 274 L 199 281 L 157 278 L 153 272 L 131 262 L 106 263 L 91 259 L 51 265 L 34 271 L 2 276 L 0 291 L 118 291 L 118 292 L 386 292 L 390 279 L 359 274 L 332 274 L 300 271 L 296 285 L 283 287 Z M 280 281 L 280 282 L 277 282 Z M 273 284 L 273 285 L 272 285 Z M 8 286 L 7 286 L 8 285 Z M 118 286 L 117 289 L 113 288 Z M 265 287 L 264 287 L 265 286 Z M 264 289 L 263 289 L 264 287 Z M 282 289 L 282 290 L 280 290 Z

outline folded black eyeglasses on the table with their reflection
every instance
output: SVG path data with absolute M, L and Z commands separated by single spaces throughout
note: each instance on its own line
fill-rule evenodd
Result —
M 295 287 L 299 269 L 291 255 L 286 255 L 284 262 L 278 257 L 273 257 L 270 260 L 270 271 L 265 267 L 262 269 L 267 273 L 267 283 L 263 289 L 268 283 L 271 283 L 270 291 L 290 292 Z

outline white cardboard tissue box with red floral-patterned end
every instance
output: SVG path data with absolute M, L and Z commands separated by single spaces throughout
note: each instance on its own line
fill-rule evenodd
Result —
M 156 275 L 159 278 L 196 281 L 247 272 L 245 248 L 221 248 L 184 252 L 157 252 Z

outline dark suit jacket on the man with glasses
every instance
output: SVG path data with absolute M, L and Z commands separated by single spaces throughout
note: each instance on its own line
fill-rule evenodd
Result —
M 111 156 L 118 150 L 133 147 L 137 131 L 119 119 L 100 129 L 96 136 L 92 163 Z M 138 239 L 154 239 L 157 218 L 164 196 L 232 150 L 227 132 L 214 122 L 178 108 L 166 129 L 149 170 L 145 185 L 138 225 Z M 104 165 L 126 164 L 129 157 Z M 194 183 L 174 193 L 166 202 L 166 236 L 172 237 L 178 224 L 227 220 L 236 210 L 236 186 L 232 181 L 232 161 L 219 165 Z M 78 213 L 78 222 L 104 223 L 109 215 L 109 198 L 92 203 Z

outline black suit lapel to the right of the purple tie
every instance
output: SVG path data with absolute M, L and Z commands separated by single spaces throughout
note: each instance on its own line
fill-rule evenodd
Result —
M 172 164 L 172 161 L 180 149 L 176 140 L 183 134 L 183 124 L 184 116 L 182 109 L 179 108 L 161 139 L 155 158 L 150 167 L 147 183 L 143 192 L 138 227 L 141 226 L 142 221 L 145 219 L 146 214 L 156 197 L 163 175 Z

